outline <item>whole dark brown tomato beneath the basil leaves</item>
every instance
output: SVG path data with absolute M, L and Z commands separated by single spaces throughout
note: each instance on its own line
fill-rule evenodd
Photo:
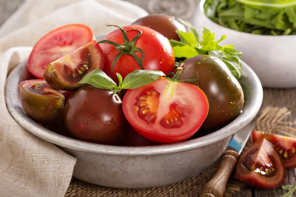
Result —
M 83 86 L 65 106 L 64 124 L 79 140 L 117 145 L 126 123 L 121 99 L 110 90 Z

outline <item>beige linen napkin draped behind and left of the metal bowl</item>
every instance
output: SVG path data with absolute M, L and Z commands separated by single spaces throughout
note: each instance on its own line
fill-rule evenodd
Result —
M 76 159 L 20 127 L 9 115 L 4 85 L 45 33 L 83 23 L 95 34 L 124 26 L 147 12 L 121 0 L 27 0 L 0 28 L 0 197 L 63 197 Z M 9 87 L 8 87 L 9 88 Z

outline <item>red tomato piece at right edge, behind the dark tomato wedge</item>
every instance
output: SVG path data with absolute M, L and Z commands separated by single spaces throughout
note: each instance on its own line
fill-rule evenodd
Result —
M 292 137 L 286 137 L 282 135 L 267 134 L 262 131 L 253 131 L 253 142 L 257 142 L 260 139 L 267 139 L 270 141 L 280 155 L 284 159 L 287 169 L 296 167 L 296 139 Z

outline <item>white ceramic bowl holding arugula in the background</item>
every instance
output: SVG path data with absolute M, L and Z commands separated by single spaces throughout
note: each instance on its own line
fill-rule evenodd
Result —
M 263 87 L 296 88 L 296 35 L 257 35 L 234 31 L 211 21 L 204 13 L 201 0 L 191 23 L 215 33 L 216 39 L 227 35 L 222 45 L 233 44 L 243 52 L 242 60 L 258 75 Z

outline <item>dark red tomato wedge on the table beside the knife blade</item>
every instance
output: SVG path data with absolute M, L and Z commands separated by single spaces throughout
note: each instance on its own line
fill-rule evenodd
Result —
M 272 189 L 284 183 L 286 167 L 275 147 L 261 139 L 240 155 L 234 176 L 249 186 Z

